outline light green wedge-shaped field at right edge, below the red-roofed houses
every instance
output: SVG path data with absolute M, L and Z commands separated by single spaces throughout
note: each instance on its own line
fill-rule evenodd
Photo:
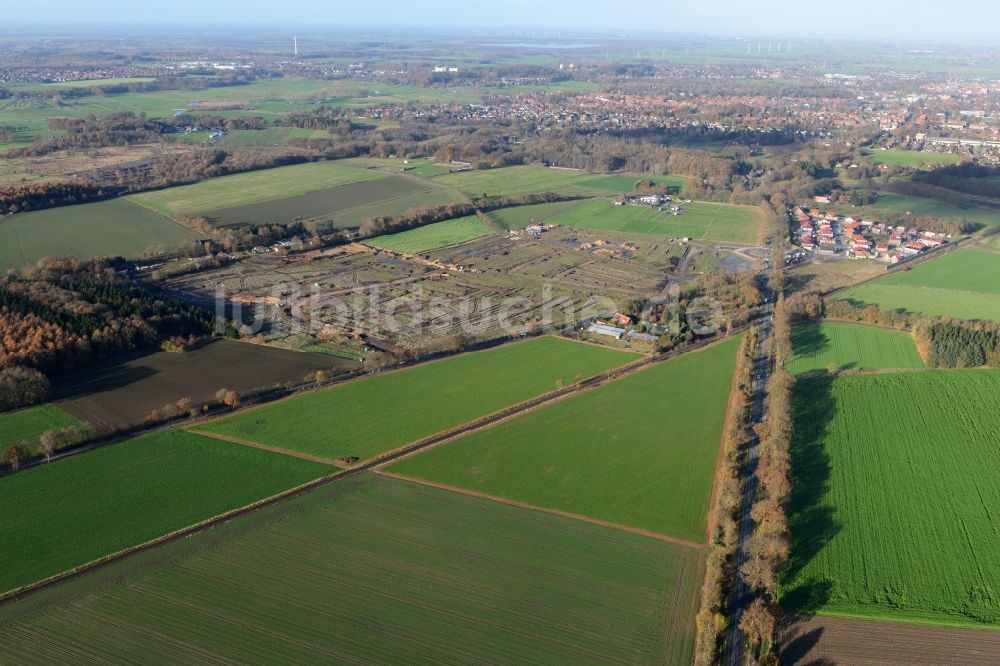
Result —
M 963 248 L 838 298 L 886 310 L 1000 321 L 1000 255 Z

